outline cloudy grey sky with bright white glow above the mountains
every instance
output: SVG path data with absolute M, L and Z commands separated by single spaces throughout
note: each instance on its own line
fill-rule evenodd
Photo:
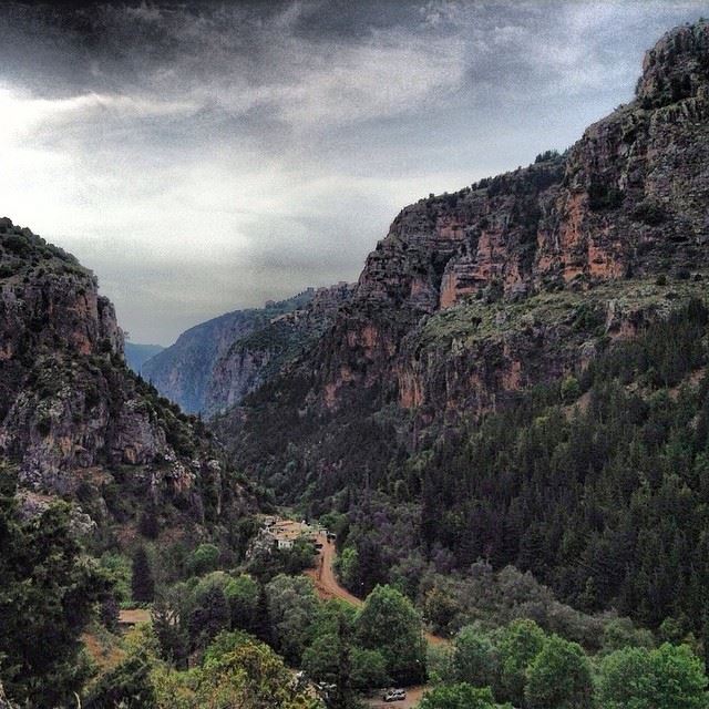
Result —
M 0 3 L 0 216 L 135 342 L 357 279 L 407 204 L 564 150 L 709 2 Z

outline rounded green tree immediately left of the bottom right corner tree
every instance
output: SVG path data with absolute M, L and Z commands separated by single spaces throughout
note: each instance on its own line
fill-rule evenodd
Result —
M 527 668 L 525 697 L 531 709 L 589 709 L 593 681 L 580 646 L 557 635 L 547 638 Z

